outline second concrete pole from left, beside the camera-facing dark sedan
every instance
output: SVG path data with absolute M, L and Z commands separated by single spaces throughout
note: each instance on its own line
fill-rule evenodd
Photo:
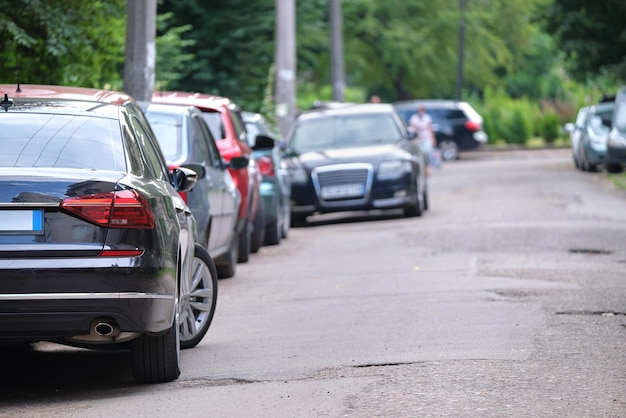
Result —
M 276 120 L 285 137 L 296 115 L 295 0 L 276 0 Z

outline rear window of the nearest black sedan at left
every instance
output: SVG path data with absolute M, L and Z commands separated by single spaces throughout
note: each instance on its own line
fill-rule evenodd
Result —
M 119 122 L 63 114 L 0 115 L 0 167 L 126 171 Z

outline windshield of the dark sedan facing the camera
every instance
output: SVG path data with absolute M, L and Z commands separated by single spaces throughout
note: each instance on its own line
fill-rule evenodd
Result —
M 307 152 L 395 143 L 401 137 L 392 115 L 340 115 L 298 122 L 291 146 L 297 152 Z

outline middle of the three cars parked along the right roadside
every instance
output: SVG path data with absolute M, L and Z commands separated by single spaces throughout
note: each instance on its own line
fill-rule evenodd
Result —
M 582 171 L 597 171 L 606 159 L 606 141 L 611 129 L 613 102 L 590 106 L 580 129 L 577 147 L 578 168 Z

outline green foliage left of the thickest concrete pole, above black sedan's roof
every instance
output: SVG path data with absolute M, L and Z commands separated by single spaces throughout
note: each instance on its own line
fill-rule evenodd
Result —
M 0 0 L 6 82 L 121 85 L 124 0 Z

